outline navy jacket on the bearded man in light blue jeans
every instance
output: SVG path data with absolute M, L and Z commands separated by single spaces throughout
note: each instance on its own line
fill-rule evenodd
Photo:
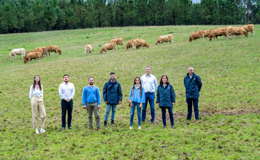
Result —
M 120 83 L 115 79 L 115 82 L 111 82 L 111 79 L 105 83 L 103 88 L 103 100 L 109 104 L 119 104 L 118 101 L 122 101 L 123 95 Z

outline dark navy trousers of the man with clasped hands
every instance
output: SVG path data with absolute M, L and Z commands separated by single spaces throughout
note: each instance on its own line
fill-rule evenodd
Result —
M 62 127 L 66 128 L 66 113 L 68 110 L 68 127 L 71 127 L 71 119 L 72 119 L 72 109 L 73 109 L 73 101 L 72 99 L 67 102 L 66 100 L 61 100 L 62 107 Z

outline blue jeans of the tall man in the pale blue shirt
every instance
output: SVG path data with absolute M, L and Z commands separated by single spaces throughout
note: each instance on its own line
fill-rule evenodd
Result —
M 155 98 L 154 92 L 145 93 L 145 103 L 143 103 L 143 109 L 142 109 L 142 121 L 145 121 L 146 119 L 146 108 L 147 108 L 148 101 L 151 108 L 151 121 L 154 121 L 155 118 L 154 98 Z

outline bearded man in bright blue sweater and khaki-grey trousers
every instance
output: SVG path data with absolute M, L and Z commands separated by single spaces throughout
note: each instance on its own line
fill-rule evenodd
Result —
M 101 104 L 101 96 L 100 91 L 97 86 L 94 86 L 94 78 L 90 77 L 88 78 L 88 86 L 83 88 L 82 92 L 82 104 L 83 109 L 87 109 L 88 112 L 88 126 L 89 126 L 89 132 L 93 130 L 93 119 L 92 119 L 92 113 L 94 112 L 94 115 L 96 117 L 96 128 L 97 130 L 100 129 L 100 118 L 99 118 L 99 108 Z

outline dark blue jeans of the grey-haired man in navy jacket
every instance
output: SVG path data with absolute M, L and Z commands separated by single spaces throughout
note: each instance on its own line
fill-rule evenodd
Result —
M 192 116 L 192 104 L 194 107 L 194 114 L 195 114 L 195 119 L 198 118 L 198 97 L 193 97 L 193 98 L 186 98 L 187 104 L 188 104 L 188 115 L 187 119 L 190 120 Z

